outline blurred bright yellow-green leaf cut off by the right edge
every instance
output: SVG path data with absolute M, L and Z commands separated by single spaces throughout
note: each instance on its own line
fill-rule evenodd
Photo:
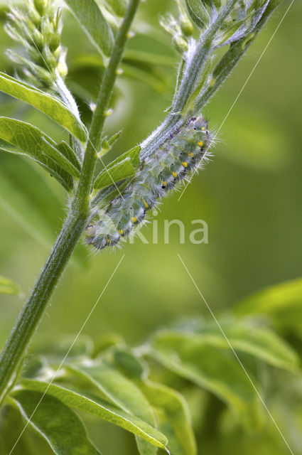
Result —
M 239 316 L 264 314 L 273 319 L 283 331 L 301 337 L 302 333 L 302 279 L 276 284 L 239 301 L 234 309 Z

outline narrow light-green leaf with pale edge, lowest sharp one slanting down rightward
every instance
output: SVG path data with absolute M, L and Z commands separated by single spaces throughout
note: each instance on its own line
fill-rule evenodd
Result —
M 28 390 L 45 392 L 45 390 L 48 389 L 48 395 L 58 398 L 58 400 L 65 405 L 107 420 L 107 422 L 116 424 L 119 427 L 146 439 L 146 441 L 149 441 L 154 446 L 166 449 L 168 441 L 161 432 L 158 432 L 158 430 L 134 415 L 119 410 L 118 407 L 110 405 L 109 403 L 104 402 L 104 400 L 100 400 L 99 397 L 96 397 L 95 395 L 87 394 L 87 392 L 70 390 L 66 387 L 54 384 L 49 386 L 48 382 L 36 380 L 22 380 L 21 385 L 26 389 L 26 392 L 28 392 Z M 15 392 L 12 393 L 14 395 Z

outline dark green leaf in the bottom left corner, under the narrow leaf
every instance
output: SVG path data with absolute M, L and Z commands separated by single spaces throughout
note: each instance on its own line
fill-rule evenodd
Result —
M 58 398 L 31 390 L 13 392 L 28 424 L 48 442 L 56 455 L 97 455 L 77 414 Z

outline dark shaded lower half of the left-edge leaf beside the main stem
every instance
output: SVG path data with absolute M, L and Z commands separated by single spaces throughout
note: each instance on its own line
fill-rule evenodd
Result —
M 64 171 L 63 168 L 58 166 L 52 159 L 48 158 L 48 156 L 38 156 L 38 154 L 31 154 L 28 155 L 26 150 L 22 150 L 19 147 L 14 146 L 13 144 L 9 144 L 2 139 L 0 139 L 0 151 L 6 151 L 11 154 L 18 154 L 18 155 L 25 155 L 30 156 L 36 163 L 40 164 L 40 166 L 45 169 L 50 176 L 56 178 L 56 180 L 65 188 L 67 191 L 71 191 L 73 187 L 73 180 L 70 173 Z

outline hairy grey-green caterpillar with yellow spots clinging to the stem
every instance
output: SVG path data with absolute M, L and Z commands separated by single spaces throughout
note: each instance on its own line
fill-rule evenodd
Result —
M 136 225 L 144 222 L 146 212 L 171 191 L 188 172 L 205 159 L 211 142 L 207 121 L 192 118 L 172 135 L 158 151 L 144 159 L 123 194 L 107 206 L 102 219 L 87 225 L 85 242 L 98 250 L 117 245 Z

